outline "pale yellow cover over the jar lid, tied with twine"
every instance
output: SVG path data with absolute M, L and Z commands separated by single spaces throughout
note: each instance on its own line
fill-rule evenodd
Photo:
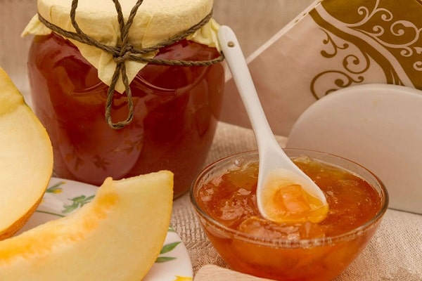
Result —
M 72 0 L 38 0 L 38 14 L 34 15 L 22 35 L 51 33 L 39 19 L 44 18 L 61 29 L 75 32 L 70 11 Z M 121 41 L 120 24 L 113 1 L 80 0 L 75 9 L 75 21 L 80 30 L 95 41 L 106 46 L 119 46 Z M 136 49 L 148 48 L 182 34 L 212 13 L 212 0 L 120 0 L 124 22 L 127 22 L 131 10 L 141 2 L 129 28 L 128 42 Z M 199 30 L 188 35 L 186 39 L 219 49 L 217 30 L 219 25 L 212 18 Z M 89 63 L 98 69 L 98 77 L 105 84 L 111 84 L 117 63 L 113 55 L 101 48 L 70 39 Z M 142 54 L 143 58 L 153 58 L 158 51 Z M 127 78 L 130 81 L 147 63 L 125 60 Z M 115 90 L 122 93 L 122 78 L 117 81 Z

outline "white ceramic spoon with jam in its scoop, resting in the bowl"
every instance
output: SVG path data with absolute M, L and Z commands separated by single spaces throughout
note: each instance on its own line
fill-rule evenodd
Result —
M 257 141 L 260 163 L 257 206 L 260 213 L 271 221 L 312 221 L 315 223 L 322 221 L 328 211 L 326 197 L 314 181 L 292 162 L 277 143 L 265 117 L 236 35 L 230 27 L 222 26 L 219 29 L 218 38 Z M 295 188 L 297 191 L 298 187 L 301 188 L 300 192 L 295 192 Z M 302 201 L 295 197 L 298 193 L 307 199 Z M 273 203 L 274 198 L 277 204 Z M 280 207 L 278 203 L 284 202 L 285 199 L 287 203 Z M 297 204 L 298 202 L 300 204 Z

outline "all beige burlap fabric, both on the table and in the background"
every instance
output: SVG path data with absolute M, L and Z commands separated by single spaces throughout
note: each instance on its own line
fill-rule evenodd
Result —
M 264 6 L 253 0 L 215 1 L 215 15 L 219 22 L 234 27 L 241 35 L 239 39 L 248 55 L 311 1 L 271 0 Z M 255 17 L 260 11 L 265 17 Z M 20 32 L 34 13 L 34 0 L 0 0 L 0 65 L 11 75 L 29 103 L 26 57 L 31 38 L 20 38 Z M 257 32 L 250 32 L 252 27 L 260 30 L 259 39 Z M 286 138 L 281 137 L 279 141 L 284 145 Z M 207 164 L 236 152 L 254 149 L 255 138 L 250 129 L 220 123 Z M 194 273 L 205 264 L 226 267 L 200 228 L 188 194 L 174 201 L 172 226 L 188 249 Z M 336 281 L 422 280 L 421 253 L 422 216 L 388 210 L 366 250 Z

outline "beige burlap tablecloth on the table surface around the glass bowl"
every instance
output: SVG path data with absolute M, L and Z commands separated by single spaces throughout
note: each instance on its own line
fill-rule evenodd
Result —
M 278 140 L 282 146 L 286 143 L 286 138 Z M 207 164 L 255 149 L 252 130 L 220 122 Z M 174 201 L 172 226 L 188 249 L 193 273 L 206 264 L 227 267 L 201 229 L 188 194 Z M 366 249 L 335 279 L 343 280 L 422 280 L 422 216 L 389 209 Z

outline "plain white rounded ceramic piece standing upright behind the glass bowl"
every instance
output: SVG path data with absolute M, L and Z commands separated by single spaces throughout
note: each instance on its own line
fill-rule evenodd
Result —
M 421 93 L 388 84 L 335 91 L 303 112 L 286 147 L 362 164 L 387 187 L 391 208 L 422 214 Z

